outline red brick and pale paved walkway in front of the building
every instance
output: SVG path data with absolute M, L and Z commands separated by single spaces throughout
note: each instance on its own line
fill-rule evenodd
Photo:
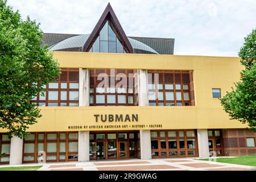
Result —
M 256 167 L 237 164 L 208 162 L 195 159 L 106 160 L 90 162 L 23 164 L 42 166 L 38 171 L 256 171 Z M 0 167 L 15 167 L 1 165 Z M 18 167 L 18 166 L 16 166 Z

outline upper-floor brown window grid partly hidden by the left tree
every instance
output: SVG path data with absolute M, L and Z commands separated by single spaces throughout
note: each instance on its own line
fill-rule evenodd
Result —
M 53 106 L 55 106 L 55 104 L 56 106 L 79 106 L 79 98 L 77 98 L 77 100 L 69 100 L 70 92 L 79 93 L 79 88 L 70 88 L 71 84 L 79 84 L 79 69 L 61 69 L 61 75 L 57 77 L 57 82 L 55 83 L 58 84 L 57 88 L 49 88 L 49 84 L 46 85 L 45 100 L 40 100 L 40 94 L 38 93 L 36 100 L 32 100 L 31 103 L 36 103 L 39 106 L 51 106 L 51 104 L 53 104 Z M 67 84 L 67 88 L 61 88 L 61 83 Z M 49 92 L 57 92 L 58 99 L 49 100 Z M 61 100 L 61 92 L 67 93 L 66 100 Z

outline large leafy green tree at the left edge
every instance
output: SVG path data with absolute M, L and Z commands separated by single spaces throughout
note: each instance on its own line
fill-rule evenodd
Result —
M 0 0 L 0 128 L 9 137 L 26 137 L 29 126 L 42 116 L 31 99 L 60 74 L 52 53 L 41 46 L 39 25 L 29 16 L 22 20 Z

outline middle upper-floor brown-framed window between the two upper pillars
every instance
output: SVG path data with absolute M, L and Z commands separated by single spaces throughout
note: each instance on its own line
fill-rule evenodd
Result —
M 127 69 L 90 69 L 90 106 L 134 106 L 134 73 Z

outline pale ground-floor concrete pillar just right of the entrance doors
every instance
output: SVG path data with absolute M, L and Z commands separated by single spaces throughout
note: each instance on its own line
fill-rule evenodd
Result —
M 152 159 L 150 130 L 139 130 L 141 140 L 141 159 Z

